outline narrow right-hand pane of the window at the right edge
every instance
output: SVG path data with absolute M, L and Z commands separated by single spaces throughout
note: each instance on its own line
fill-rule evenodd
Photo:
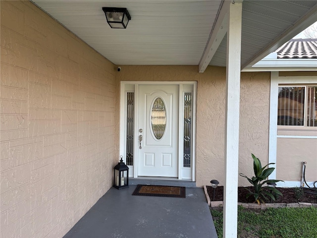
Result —
M 307 126 L 317 126 L 317 87 L 307 87 Z

